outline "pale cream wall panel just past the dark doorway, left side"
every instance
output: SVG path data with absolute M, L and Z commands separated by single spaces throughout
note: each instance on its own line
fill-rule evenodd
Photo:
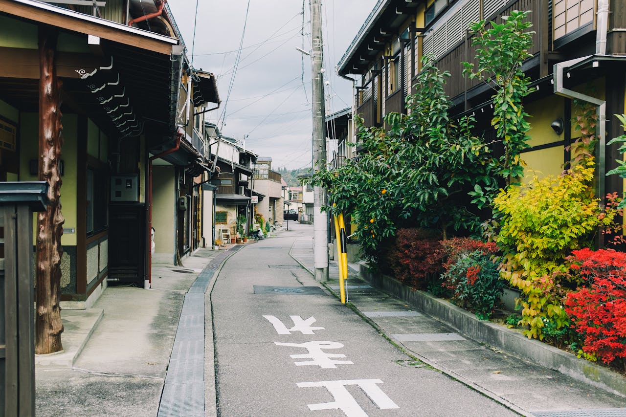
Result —
M 155 228 L 155 255 L 153 262 L 172 263 L 176 229 L 174 213 L 174 168 L 152 168 L 152 227 Z

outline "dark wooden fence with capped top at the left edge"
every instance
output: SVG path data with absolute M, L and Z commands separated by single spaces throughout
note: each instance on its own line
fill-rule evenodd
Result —
M 0 415 L 35 415 L 33 211 L 47 182 L 0 182 Z M 0 253 L 1 254 L 1 253 Z

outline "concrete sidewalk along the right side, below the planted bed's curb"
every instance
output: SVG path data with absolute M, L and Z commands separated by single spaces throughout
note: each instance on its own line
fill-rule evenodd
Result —
M 299 239 L 290 254 L 313 274 L 312 239 Z M 457 329 L 389 296 L 350 265 L 349 305 L 381 334 L 414 358 L 528 416 L 626 416 L 626 398 L 552 369 L 491 348 Z M 324 285 L 339 294 L 337 263 Z

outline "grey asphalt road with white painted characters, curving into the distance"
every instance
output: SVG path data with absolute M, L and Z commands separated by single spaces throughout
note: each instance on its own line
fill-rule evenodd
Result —
M 312 226 L 290 222 L 235 253 L 217 277 L 218 416 L 517 415 L 414 362 L 330 296 L 289 256 L 304 236 Z

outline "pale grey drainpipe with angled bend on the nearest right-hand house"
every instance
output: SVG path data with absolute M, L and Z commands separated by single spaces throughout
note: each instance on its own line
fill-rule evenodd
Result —
M 596 49 L 595 55 L 606 55 L 607 54 L 607 26 L 608 26 L 608 0 L 598 0 L 598 21 L 597 21 L 597 29 L 596 29 Z M 598 126 L 597 131 L 599 134 L 598 141 L 598 182 L 597 182 L 597 196 L 600 198 L 600 207 L 603 209 L 604 207 L 604 197 L 605 197 L 605 174 L 606 174 L 606 145 L 607 145 L 607 102 L 605 100 L 600 100 L 599 98 L 595 98 L 592 96 L 584 95 L 582 93 L 578 93 L 578 91 L 573 91 L 565 88 L 563 86 L 563 68 L 569 68 L 574 64 L 579 63 L 580 61 L 584 61 L 585 59 L 591 58 L 591 56 L 583 56 L 582 58 L 570 59 L 569 61 L 563 61 L 561 63 L 555 64 L 553 70 L 553 81 L 554 81 L 554 92 L 557 95 L 566 97 L 566 98 L 575 98 L 582 101 L 587 101 L 587 103 L 591 103 L 596 106 L 597 115 L 598 115 Z M 597 66 L 597 63 L 593 63 L 593 66 Z M 604 237 L 602 234 L 599 235 L 599 247 L 602 247 L 604 244 Z

